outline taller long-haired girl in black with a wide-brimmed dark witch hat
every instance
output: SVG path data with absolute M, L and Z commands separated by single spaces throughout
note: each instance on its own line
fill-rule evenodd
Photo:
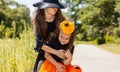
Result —
M 46 45 L 51 32 L 55 32 L 56 35 L 58 34 L 57 26 L 64 20 L 60 9 L 66 8 L 67 4 L 60 3 L 58 0 L 41 0 L 33 4 L 33 6 L 37 7 L 32 22 L 35 26 L 36 35 L 35 50 L 38 52 L 33 72 L 38 72 L 41 64 L 45 60 L 45 51 L 52 53 L 62 59 L 66 58 L 62 51 L 52 48 L 45 48 L 43 46 Z

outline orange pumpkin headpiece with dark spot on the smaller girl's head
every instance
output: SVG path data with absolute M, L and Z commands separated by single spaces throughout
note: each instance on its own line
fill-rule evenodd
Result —
M 60 23 L 60 29 L 65 34 L 71 34 L 75 30 L 75 25 L 71 21 L 63 21 Z

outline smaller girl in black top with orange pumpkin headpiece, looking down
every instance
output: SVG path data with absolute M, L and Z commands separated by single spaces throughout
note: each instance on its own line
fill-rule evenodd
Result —
M 52 38 L 44 47 L 50 47 L 56 50 L 62 49 L 67 58 L 63 60 L 54 54 L 45 52 L 46 60 L 41 65 L 39 72 L 82 72 L 79 66 L 71 65 L 75 37 L 74 23 L 63 21 L 60 23 L 59 30 L 59 35 Z

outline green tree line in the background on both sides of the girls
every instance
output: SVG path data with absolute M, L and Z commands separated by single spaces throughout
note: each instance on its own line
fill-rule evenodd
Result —
M 120 40 L 120 0 L 64 1 L 69 4 L 65 17 L 70 14 L 76 24 L 76 40 L 98 40 L 98 43 Z M 0 38 L 20 37 L 30 22 L 30 10 L 25 5 L 12 0 L 0 1 Z

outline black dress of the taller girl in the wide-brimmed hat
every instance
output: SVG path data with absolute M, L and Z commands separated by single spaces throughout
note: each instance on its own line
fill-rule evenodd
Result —
M 53 22 L 46 22 L 48 27 L 47 27 L 47 37 L 50 35 L 50 32 L 53 32 L 56 29 L 56 23 L 55 20 Z M 42 36 L 38 35 L 36 33 L 36 47 L 35 50 L 38 52 L 38 56 L 36 59 L 36 62 L 34 64 L 34 70 L 33 72 L 38 72 L 41 64 L 45 60 L 44 58 L 44 51 L 41 50 L 42 45 L 44 44 L 44 40 Z

